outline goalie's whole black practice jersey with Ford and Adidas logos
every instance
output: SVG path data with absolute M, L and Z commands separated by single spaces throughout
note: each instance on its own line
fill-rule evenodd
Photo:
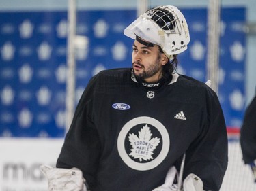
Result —
M 146 84 L 112 69 L 90 80 L 57 167 L 81 169 L 92 191 L 150 191 L 184 153 L 183 178 L 195 173 L 205 190 L 219 190 L 227 132 L 214 91 L 177 73 Z

